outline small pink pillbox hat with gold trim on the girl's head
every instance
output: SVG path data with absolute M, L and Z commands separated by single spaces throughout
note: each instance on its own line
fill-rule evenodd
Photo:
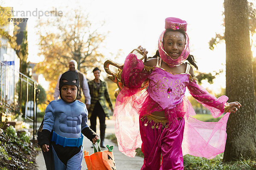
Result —
M 181 29 L 186 31 L 186 26 L 187 23 L 186 21 L 180 20 L 179 18 L 175 18 L 175 17 L 168 17 L 165 20 L 165 28 L 166 29 L 173 29 L 173 30 L 177 30 L 177 29 Z

